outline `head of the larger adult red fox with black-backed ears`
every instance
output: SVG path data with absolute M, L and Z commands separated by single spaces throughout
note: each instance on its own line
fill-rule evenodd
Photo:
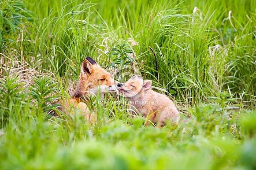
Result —
M 116 81 L 116 85 L 118 81 Z M 81 97 L 82 95 L 89 93 L 96 94 L 115 92 L 115 81 L 111 78 L 111 74 L 106 70 L 100 68 L 100 66 L 90 57 L 82 62 L 80 81 L 74 96 Z

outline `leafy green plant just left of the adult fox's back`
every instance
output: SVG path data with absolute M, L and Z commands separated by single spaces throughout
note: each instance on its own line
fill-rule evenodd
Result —
M 31 96 L 36 99 L 37 103 L 37 116 L 41 113 L 45 113 L 46 111 L 57 107 L 59 104 L 53 104 L 48 106 L 47 103 L 51 103 L 53 100 L 59 99 L 55 95 L 51 96 L 50 94 L 55 91 L 56 83 L 52 83 L 51 78 L 43 77 L 43 78 L 33 78 L 35 85 L 32 86 Z

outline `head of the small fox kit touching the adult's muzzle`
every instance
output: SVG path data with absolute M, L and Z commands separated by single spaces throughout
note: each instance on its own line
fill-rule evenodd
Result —
M 150 89 L 152 85 L 151 80 L 143 80 L 141 76 L 130 78 L 125 83 L 118 83 L 118 91 L 124 94 L 126 97 L 135 97 L 135 95 L 144 95 L 146 90 Z

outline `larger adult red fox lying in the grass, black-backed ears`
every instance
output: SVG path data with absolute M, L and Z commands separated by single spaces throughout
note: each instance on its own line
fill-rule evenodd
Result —
M 80 80 L 74 92 L 74 95 L 70 99 L 59 101 L 60 104 L 57 109 L 63 111 L 66 114 L 74 113 L 74 109 L 81 111 L 85 120 L 93 123 L 96 121 L 96 114 L 90 113 L 87 109 L 87 105 L 82 102 L 82 99 L 90 94 L 95 94 L 97 91 L 101 93 L 115 92 L 115 82 L 111 78 L 111 74 L 106 70 L 100 68 L 100 66 L 89 56 L 82 62 Z M 53 113 L 56 116 L 56 111 L 50 110 L 48 114 Z

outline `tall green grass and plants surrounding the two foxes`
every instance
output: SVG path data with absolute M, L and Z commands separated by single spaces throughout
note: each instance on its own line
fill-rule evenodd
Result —
M 183 121 L 144 127 L 115 94 L 88 101 L 96 124 L 48 119 L 87 55 L 131 60 Z M 256 168 L 255 0 L 0 0 L 0 57 L 0 169 Z

